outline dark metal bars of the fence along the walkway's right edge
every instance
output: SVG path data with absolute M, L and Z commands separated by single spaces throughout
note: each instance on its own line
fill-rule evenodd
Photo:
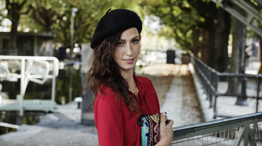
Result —
M 243 74 L 243 73 L 220 73 L 209 66 L 207 66 L 204 62 L 200 61 L 197 57 L 193 56 L 190 58 L 195 70 L 196 70 L 196 75 L 198 75 L 205 92 L 207 93 L 207 97 L 210 102 L 210 107 L 214 109 L 214 118 L 217 116 L 224 116 L 228 117 L 226 115 L 219 115 L 217 113 L 217 97 L 218 96 L 223 96 L 223 97 L 238 97 L 238 98 L 253 98 L 256 100 L 256 107 L 255 107 L 255 112 L 258 112 L 258 105 L 259 105 L 259 100 L 262 99 L 260 97 L 260 84 L 262 80 L 262 75 L 249 75 L 249 74 Z M 249 78 L 249 79 L 255 79 L 255 85 L 256 85 L 256 93 L 253 95 L 247 95 L 247 94 L 240 94 L 240 93 L 218 93 L 218 80 L 221 77 L 236 77 L 237 79 L 243 79 L 243 78 Z M 242 84 L 242 81 L 241 81 Z M 246 84 L 246 83 L 245 83 Z M 241 90 L 242 87 L 241 87 Z M 244 89 L 245 91 L 246 89 Z

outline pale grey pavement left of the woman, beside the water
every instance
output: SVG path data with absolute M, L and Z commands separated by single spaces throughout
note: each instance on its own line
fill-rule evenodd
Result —
M 80 124 L 77 103 L 59 105 L 58 112 L 40 116 L 36 125 L 22 124 L 0 135 L 0 146 L 98 146 L 96 127 Z

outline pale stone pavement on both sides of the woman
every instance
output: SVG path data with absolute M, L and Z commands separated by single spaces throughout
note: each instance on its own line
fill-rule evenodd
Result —
M 173 127 L 204 121 L 188 65 L 146 66 L 138 75 L 152 81 L 161 112 L 174 120 Z M 37 125 L 21 125 L 17 132 L 0 135 L 0 146 L 98 146 L 96 128 L 79 123 L 81 110 L 77 103 L 60 105 L 59 110 L 42 116 Z

